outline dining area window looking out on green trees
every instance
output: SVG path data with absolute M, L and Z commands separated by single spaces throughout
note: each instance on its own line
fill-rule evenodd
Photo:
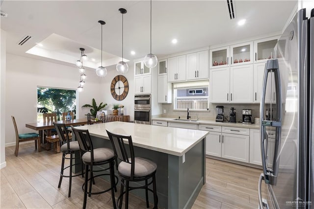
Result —
M 37 121 L 43 120 L 43 113 L 56 112 L 61 120 L 62 112 L 76 112 L 76 90 L 37 87 Z

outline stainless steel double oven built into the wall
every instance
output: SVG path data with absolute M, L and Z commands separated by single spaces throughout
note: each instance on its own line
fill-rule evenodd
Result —
M 150 94 L 134 96 L 134 123 L 151 124 L 152 97 Z

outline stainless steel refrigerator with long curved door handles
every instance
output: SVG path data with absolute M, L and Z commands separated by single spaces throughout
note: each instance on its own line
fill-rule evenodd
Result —
M 259 208 L 314 208 L 313 33 L 314 9 L 299 10 L 266 63 Z

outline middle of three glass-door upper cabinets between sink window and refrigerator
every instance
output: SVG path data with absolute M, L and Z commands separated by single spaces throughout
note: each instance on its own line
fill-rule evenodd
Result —
M 253 64 L 253 41 L 230 46 L 231 66 Z

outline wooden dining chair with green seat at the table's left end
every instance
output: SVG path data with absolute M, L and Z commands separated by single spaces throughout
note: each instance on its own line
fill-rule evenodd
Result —
M 11 115 L 12 121 L 13 121 L 13 125 L 14 125 L 14 130 L 15 130 L 15 138 L 16 138 L 16 142 L 15 142 L 15 156 L 18 157 L 19 154 L 19 144 L 20 142 L 25 142 L 25 141 L 35 141 L 35 149 L 37 150 L 37 146 L 38 146 L 38 152 L 41 151 L 41 147 L 40 147 L 40 137 L 38 133 L 20 133 L 18 131 L 18 127 L 16 126 L 16 122 L 15 122 L 15 118 L 14 116 Z

